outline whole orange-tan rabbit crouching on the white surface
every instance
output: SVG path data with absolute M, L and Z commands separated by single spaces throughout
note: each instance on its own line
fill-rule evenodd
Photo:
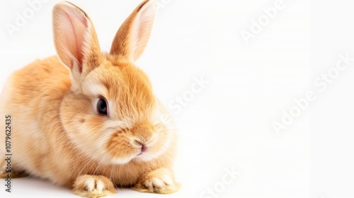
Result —
M 155 13 L 154 1 L 139 4 L 108 53 L 101 52 L 81 8 L 68 1 L 55 4 L 57 56 L 15 71 L 1 93 L 1 117 L 11 116 L 13 175 L 40 177 L 82 197 L 104 197 L 118 187 L 159 194 L 179 190 L 173 173 L 176 129 L 163 122 L 171 117 L 135 66 Z M 5 133 L 0 137 L 5 156 Z M 2 160 L 2 177 L 5 167 Z

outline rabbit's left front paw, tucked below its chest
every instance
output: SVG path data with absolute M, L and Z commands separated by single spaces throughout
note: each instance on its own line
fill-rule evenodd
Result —
M 81 175 L 74 183 L 74 194 L 81 197 L 105 197 L 115 192 L 113 182 L 101 175 Z

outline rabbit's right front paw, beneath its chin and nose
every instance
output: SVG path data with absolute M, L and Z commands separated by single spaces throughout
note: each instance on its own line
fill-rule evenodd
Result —
M 180 185 L 174 180 L 171 170 L 160 168 L 141 177 L 134 189 L 139 192 L 171 194 L 178 191 L 179 187 Z

